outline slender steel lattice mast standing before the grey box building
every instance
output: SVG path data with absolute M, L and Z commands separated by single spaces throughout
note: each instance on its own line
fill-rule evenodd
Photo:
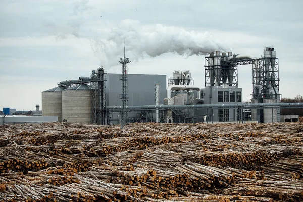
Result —
M 131 61 L 129 58 L 125 57 L 125 46 L 124 46 L 124 58 L 120 58 L 119 63 L 122 64 L 122 75 L 120 75 L 120 80 L 122 80 L 122 94 L 120 94 L 120 99 L 122 99 L 122 109 L 120 114 L 120 122 L 121 122 L 121 129 L 124 128 L 125 124 L 128 123 L 128 110 L 126 109 L 127 106 L 127 63 Z

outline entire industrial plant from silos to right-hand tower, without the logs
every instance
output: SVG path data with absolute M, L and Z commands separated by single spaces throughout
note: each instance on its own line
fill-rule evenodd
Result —
M 166 75 L 128 74 L 130 59 L 120 58 L 121 74 L 103 67 L 89 77 L 66 80 L 42 92 L 42 115 L 59 122 L 97 125 L 134 122 L 197 123 L 280 121 L 279 61 L 273 47 L 260 58 L 215 51 L 205 57 L 205 86 L 194 85 L 189 70 Z M 251 103 L 242 103 L 238 66 L 252 66 Z M 167 83 L 166 83 L 167 82 Z M 140 83 L 140 85 L 138 85 Z M 247 89 L 246 89 L 247 90 Z M 290 106 L 291 107 L 291 106 Z

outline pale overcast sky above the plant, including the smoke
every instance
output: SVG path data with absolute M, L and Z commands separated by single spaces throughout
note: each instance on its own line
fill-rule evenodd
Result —
M 42 91 L 99 66 L 119 73 L 124 38 L 129 73 L 169 78 L 190 70 L 200 87 L 202 52 L 260 57 L 274 46 L 282 97 L 303 95 L 302 8 L 301 0 L 0 1 L 0 109 L 34 110 Z M 252 93 L 251 71 L 238 67 L 243 100 Z

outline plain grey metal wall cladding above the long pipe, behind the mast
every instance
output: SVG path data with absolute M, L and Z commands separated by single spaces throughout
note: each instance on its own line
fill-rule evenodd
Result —
M 106 74 L 107 106 L 121 106 L 120 74 Z M 155 104 L 155 84 L 160 85 L 160 105 L 166 97 L 166 75 L 128 74 L 128 106 Z

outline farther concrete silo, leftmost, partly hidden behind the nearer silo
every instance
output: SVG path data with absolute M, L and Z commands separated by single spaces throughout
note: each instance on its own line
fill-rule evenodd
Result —
M 62 122 L 62 90 L 65 87 L 58 86 L 42 92 L 42 116 L 58 116 L 58 122 Z

